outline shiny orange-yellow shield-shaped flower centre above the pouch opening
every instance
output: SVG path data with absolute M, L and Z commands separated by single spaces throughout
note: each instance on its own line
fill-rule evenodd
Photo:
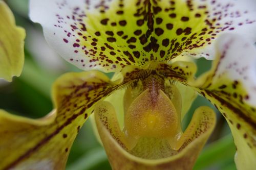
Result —
M 126 90 L 124 98 L 132 98 L 129 100 L 132 102 L 126 104 L 130 106 L 126 106 L 124 115 L 125 134 L 135 139 L 174 138 L 179 133 L 180 113 L 164 93 L 164 79 L 151 75 L 142 81 L 142 89 L 140 94 L 132 88 Z

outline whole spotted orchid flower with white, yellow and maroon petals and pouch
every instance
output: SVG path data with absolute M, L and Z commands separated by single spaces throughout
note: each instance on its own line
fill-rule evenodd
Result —
M 0 114 L 0 168 L 64 169 L 94 112 L 113 169 L 191 169 L 216 122 L 202 106 L 181 130 L 198 92 L 226 118 L 237 168 L 252 169 L 255 14 L 252 0 L 31 0 L 30 17 L 48 43 L 86 71 L 54 83 L 56 109 L 46 117 Z M 185 57 L 213 60 L 212 67 L 195 78 L 197 66 Z

